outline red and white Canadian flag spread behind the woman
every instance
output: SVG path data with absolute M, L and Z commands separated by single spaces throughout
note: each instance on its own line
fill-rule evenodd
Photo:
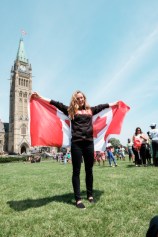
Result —
M 70 146 L 70 119 L 55 106 L 41 98 L 30 99 L 31 146 Z M 111 134 L 120 134 L 122 122 L 130 108 L 119 101 L 118 106 L 104 109 L 93 116 L 93 139 L 96 151 L 104 151 Z

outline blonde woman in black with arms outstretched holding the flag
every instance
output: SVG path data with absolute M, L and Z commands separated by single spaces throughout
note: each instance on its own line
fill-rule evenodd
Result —
M 42 98 L 36 92 L 32 94 Z M 93 198 L 93 163 L 94 163 L 94 142 L 92 116 L 99 113 L 105 108 L 117 106 L 118 102 L 111 104 L 100 104 L 90 107 L 87 103 L 86 96 L 81 91 L 76 91 L 71 98 L 70 105 L 66 106 L 55 100 L 42 98 L 50 104 L 56 106 L 71 120 L 71 159 L 72 159 L 72 185 L 76 200 L 76 207 L 84 209 L 80 194 L 80 169 L 82 157 L 85 164 L 87 199 L 94 203 Z

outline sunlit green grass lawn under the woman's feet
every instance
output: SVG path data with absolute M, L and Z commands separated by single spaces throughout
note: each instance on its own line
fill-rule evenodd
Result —
M 85 210 L 74 205 L 71 164 L 55 161 L 0 164 L 0 236 L 145 237 L 158 214 L 157 167 L 94 166 L 95 204 L 81 192 Z

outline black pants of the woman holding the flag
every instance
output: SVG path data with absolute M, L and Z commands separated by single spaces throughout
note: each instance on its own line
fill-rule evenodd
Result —
M 94 163 L 94 143 L 93 141 L 72 142 L 72 185 L 75 200 L 81 200 L 80 196 L 80 170 L 82 159 L 84 159 L 86 172 L 87 198 L 93 196 L 93 163 Z

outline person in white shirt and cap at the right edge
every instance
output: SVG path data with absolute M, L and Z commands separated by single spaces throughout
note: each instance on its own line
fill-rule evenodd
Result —
M 151 139 L 153 164 L 158 166 L 158 129 L 156 128 L 156 123 L 152 123 L 150 128 L 151 130 L 148 132 L 148 135 Z

